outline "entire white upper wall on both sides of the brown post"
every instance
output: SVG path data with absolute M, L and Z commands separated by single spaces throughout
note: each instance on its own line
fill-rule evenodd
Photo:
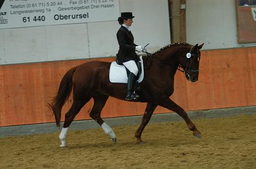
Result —
M 233 0 L 187 0 L 186 33 L 203 49 L 256 46 L 237 43 Z M 170 43 L 167 0 L 120 0 L 120 11 L 135 15 L 135 43 L 156 51 Z M 118 17 L 118 16 L 117 16 Z M 0 29 L 0 64 L 115 56 L 117 21 Z

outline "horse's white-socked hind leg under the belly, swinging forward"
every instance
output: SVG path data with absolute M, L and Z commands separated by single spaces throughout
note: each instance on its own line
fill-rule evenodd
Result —
M 114 131 L 100 117 L 101 110 L 104 108 L 106 104 L 106 100 L 108 100 L 108 96 L 103 94 L 95 94 L 92 97 L 94 99 L 94 104 L 91 112 L 89 113 L 90 117 L 93 118 L 97 123 L 99 123 L 100 126 L 103 128 L 105 134 L 109 135 L 113 143 L 116 143 L 117 138 L 116 138 L 116 135 L 114 134 Z

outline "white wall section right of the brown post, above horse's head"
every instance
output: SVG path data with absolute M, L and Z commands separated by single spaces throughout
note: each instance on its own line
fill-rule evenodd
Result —
M 186 34 L 190 44 L 204 43 L 203 49 L 256 46 L 237 43 L 236 24 L 234 0 L 186 1 Z

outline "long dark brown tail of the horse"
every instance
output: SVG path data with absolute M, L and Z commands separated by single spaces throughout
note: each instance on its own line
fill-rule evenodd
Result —
M 61 122 L 61 109 L 63 105 L 66 103 L 67 99 L 69 99 L 69 95 L 72 91 L 72 77 L 76 70 L 76 66 L 71 68 L 62 78 L 61 84 L 59 84 L 59 90 L 57 95 L 52 100 L 52 103 L 49 104 L 50 109 L 52 110 L 56 124 L 59 127 Z

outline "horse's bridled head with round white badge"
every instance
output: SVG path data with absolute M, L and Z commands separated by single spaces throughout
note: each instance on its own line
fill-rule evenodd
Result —
M 182 52 L 180 65 L 184 69 L 185 77 L 190 82 L 197 82 L 199 75 L 200 49 L 202 45 L 191 46 L 189 51 Z

